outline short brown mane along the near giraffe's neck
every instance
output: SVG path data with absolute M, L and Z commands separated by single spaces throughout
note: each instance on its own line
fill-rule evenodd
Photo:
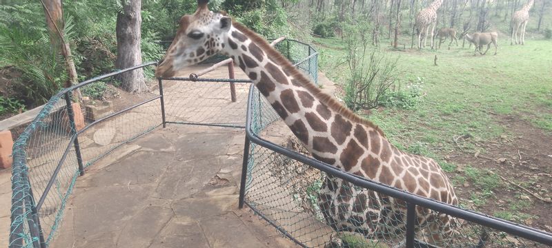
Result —
M 313 94 L 318 101 L 321 103 L 324 103 L 326 106 L 328 106 L 331 110 L 337 112 L 337 114 L 341 114 L 344 118 L 347 118 L 349 121 L 352 121 L 353 123 L 359 123 L 362 125 L 366 125 L 368 127 L 372 127 L 376 132 L 378 132 L 380 135 L 385 136 L 384 132 L 375 125 L 373 122 L 368 121 L 366 118 L 362 118 L 361 116 L 358 116 L 351 110 L 349 110 L 347 107 L 342 105 L 342 103 L 339 103 L 337 100 L 335 100 L 332 96 L 329 94 L 326 94 L 322 92 L 322 90 L 319 89 L 311 80 L 307 79 L 307 77 L 297 70 L 293 64 L 286 59 L 282 54 L 280 54 L 277 50 L 275 50 L 268 42 L 259 36 L 259 34 L 253 32 L 246 26 L 242 25 L 242 23 L 238 23 L 234 19 L 232 20 L 232 25 L 239 30 L 240 32 L 243 32 L 246 34 L 249 39 L 254 41 L 259 48 L 264 50 L 266 52 L 266 55 L 270 57 L 270 59 L 276 63 L 278 63 L 280 66 L 282 66 L 282 69 L 284 69 L 286 72 L 291 72 L 289 76 L 293 76 L 294 79 L 299 81 L 299 83 L 306 89 L 308 92 Z

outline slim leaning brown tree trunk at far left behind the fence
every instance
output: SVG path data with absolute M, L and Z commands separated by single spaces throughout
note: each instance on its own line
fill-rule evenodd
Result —
M 72 60 L 71 48 L 66 41 L 64 34 L 65 22 L 63 21 L 63 6 L 61 0 L 44 0 L 42 2 L 44 14 L 46 15 L 46 24 L 50 31 L 50 43 L 52 48 L 59 49 L 63 59 L 65 59 L 68 81 L 63 87 L 70 87 L 77 84 L 77 70 L 75 62 Z

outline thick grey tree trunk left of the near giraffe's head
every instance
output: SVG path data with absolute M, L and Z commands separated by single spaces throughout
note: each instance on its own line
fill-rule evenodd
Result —
M 117 61 L 119 69 L 129 68 L 142 63 L 140 49 L 141 0 L 122 0 L 123 11 L 117 14 Z M 146 90 L 144 73 L 141 69 L 121 74 L 119 77 L 123 89 L 128 92 Z

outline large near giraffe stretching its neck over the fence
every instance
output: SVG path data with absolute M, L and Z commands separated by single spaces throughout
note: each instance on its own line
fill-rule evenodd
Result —
M 253 81 L 299 141 L 319 161 L 351 174 L 457 205 L 449 178 L 431 158 L 407 154 L 384 133 L 323 93 L 282 54 L 224 12 L 211 12 L 205 0 L 181 17 L 175 40 L 157 66 L 157 77 L 171 77 L 213 54 L 233 59 Z M 366 237 L 404 229 L 406 204 L 377 192 L 356 189 L 328 176 L 318 205 L 336 230 Z M 445 240 L 461 224 L 456 218 L 418 207 L 418 227 L 433 240 Z M 423 227 L 423 228 L 422 228 Z

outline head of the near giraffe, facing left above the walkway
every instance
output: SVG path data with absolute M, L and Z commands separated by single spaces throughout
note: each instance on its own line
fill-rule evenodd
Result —
M 157 77 L 175 76 L 189 65 L 195 65 L 220 52 L 232 19 L 208 9 L 208 0 L 198 0 L 194 14 L 180 19 L 179 28 L 165 56 L 155 71 Z

